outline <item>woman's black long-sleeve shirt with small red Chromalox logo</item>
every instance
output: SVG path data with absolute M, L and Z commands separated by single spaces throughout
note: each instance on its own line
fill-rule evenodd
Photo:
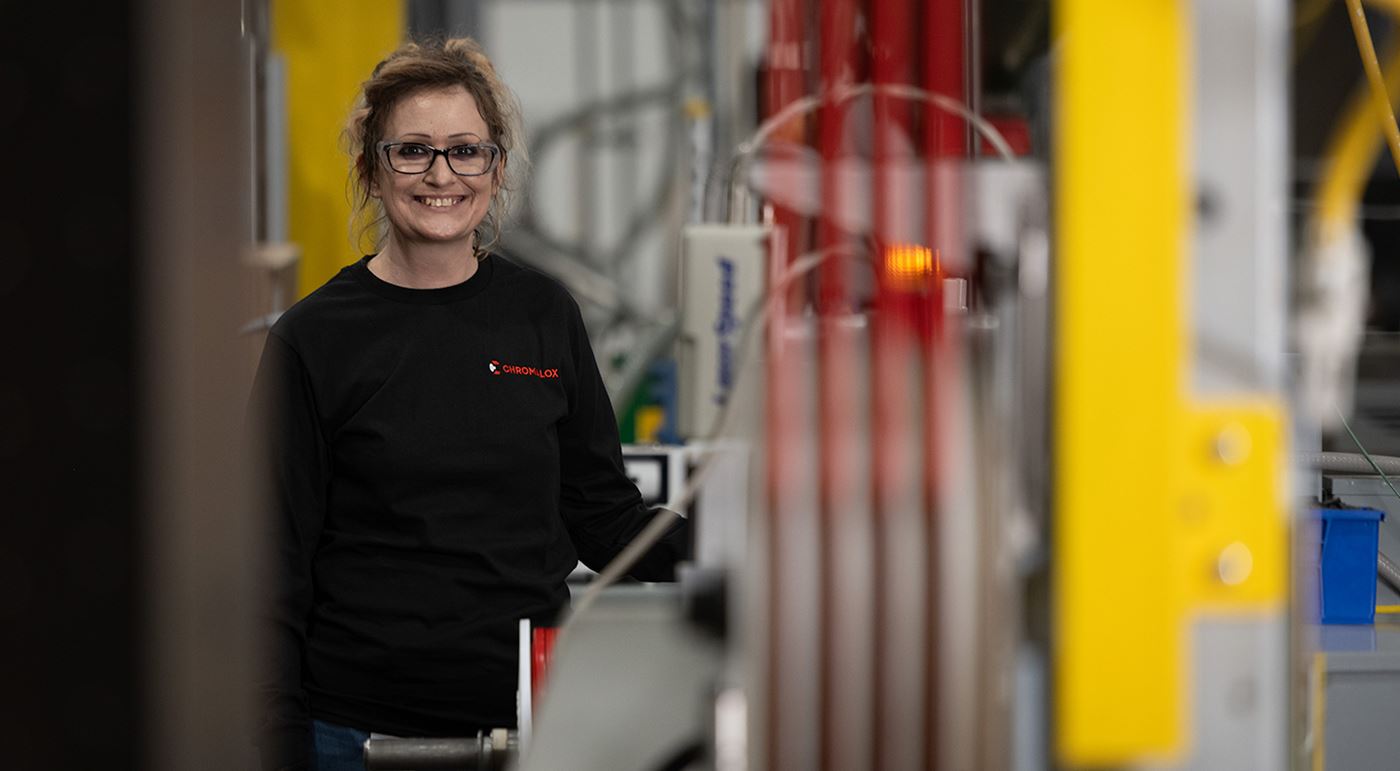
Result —
M 255 386 L 272 418 L 270 767 L 309 719 L 402 736 L 515 723 L 519 618 L 552 618 L 650 521 L 568 292 L 489 256 L 410 290 L 368 257 L 287 311 Z M 631 571 L 673 577 L 672 532 Z

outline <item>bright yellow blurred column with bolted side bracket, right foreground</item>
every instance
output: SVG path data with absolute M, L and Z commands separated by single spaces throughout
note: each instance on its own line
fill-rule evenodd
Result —
M 1060 0 L 1054 726 L 1064 765 L 1190 751 L 1190 624 L 1277 613 L 1281 411 L 1189 397 L 1187 0 Z

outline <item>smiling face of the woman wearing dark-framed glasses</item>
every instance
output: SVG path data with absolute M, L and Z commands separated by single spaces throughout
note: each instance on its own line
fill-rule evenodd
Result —
M 409 94 L 389 111 L 384 126 L 384 141 L 414 141 L 440 150 L 490 139 L 476 99 L 461 85 Z M 399 174 L 388 167 L 382 150 L 372 151 L 379 154 L 379 171 L 370 181 L 370 194 L 384 203 L 399 242 L 470 243 L 472 231 L 496 194 L 500 164 L 490 174 L 458 176 L 447 158 L 434 157 L 423 174 Z

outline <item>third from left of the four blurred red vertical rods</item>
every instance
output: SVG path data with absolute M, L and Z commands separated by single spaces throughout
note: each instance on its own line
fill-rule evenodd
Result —
M 871 4 L 871 80 L 876 87 L 913 84 L 914 3 Z M 892 253 L 916 256 L 923 241 L 909 201 L 918 193 L 899 172 L 914 161 L 909 102 L 874 98 L 875 313 L 871 329 L 871 479 L 875 528 L 875 694 L 872 767 L 904 771 L 923 767 L 924 656 L 923 614 L 930 586 L 923 581 L 923 500 L 917 421 L 918 361 L 914 302 L 907 278 L 892 274 Z M 893 252 L 892 252 L 893 250 Z M 899 252 L 903 250 L 903 252 Z M 903 281 L 903 284 L 900 284 Z

